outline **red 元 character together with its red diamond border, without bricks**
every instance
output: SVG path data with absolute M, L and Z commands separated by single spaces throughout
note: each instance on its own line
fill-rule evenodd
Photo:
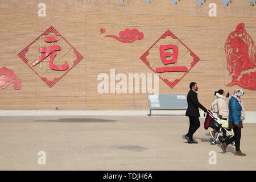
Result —
M 49 33 L 53 33 L 55 34 L 55 36 L 47 36 Z M 32 45 L 36 45 L 38 46 L 38 40 L 44 37 L 44 41 L 46 43 L 49 43 L 49 46 L 47 47 L 40 47 L 38 48 L 38 51 L 40 53 L 42 53 L 38 59 L 36 59 L 35 57 L 35 61 L 34 63 L 29 63 L 27 57 L 26 57 L 26 53 L 28 52 L 30 46 Z M 57 45 L 53 45 L 55 44 L 57 41 L 59 41 L 60 39 L 63 39 L 65 41 L 65 43 L 67 43 L 67 45 L 70 47 L 69 51 L 72 50 L 73 54 L 76 56 L 75 60 L 72 60 L 72 66 L 69 67 L 70 62 L 68 64 L 67 61 L 65 61 L 65 63 L 63 65 L 55 65 L 53 63 L 53 60 L 55 58 L 55 56 L 57 55 L 57 52 L 59 52 L 61 50 L 60 46 Z M 53 43 L 55 42 L 55 43 Z M 66 52 L 67 53 L 67 52 Z M 65 55 L 65 53 L 63 54 L 63 56 Z M 18 53 L 18 56 L 24 61 L 24 63 L 26 63 L 28 65 L 28 67 L 30 67 L 35 73 L 36 75 L 38 75 L 44 82 L 46 82 L 46 84 L 51 88 L 54 84 L 56 84 L 57 81 L 59 81 L 63 76 L 65 76 L 73 67 L 75 67 L 82 59 L 84 59 L 84 57 L 53 27 L 49 27 L 45 32 L 43 32 L 40 36 L 38 36 L 38 38 L 36 38 L 31 44 L 29 44 L 26 48 L 24 48 L 22 51 L 20 51 Z M 48 69 L 43 72 L 42 74 L 39 74 L 33 67 L 38 66 L 38 63 L 40 63 L 41 61 L 43 61 L 44 59 L 46 59 L 46 57 L 49 56 L 49 70 L 53 70 L 53 71 L 57 71 L 57 73 L 63 72 L 63 75 L 61 75 L 60 77 L 55 77 L 53 78 L 53 80 L 50 80 L 49 78 L 46 78 L 43 76 L 43 74 L 45 72 L 48 71 Z M 61 56 L 62 57 L 62 56 Z M 52 73 L 51 73 L 52 74 Z

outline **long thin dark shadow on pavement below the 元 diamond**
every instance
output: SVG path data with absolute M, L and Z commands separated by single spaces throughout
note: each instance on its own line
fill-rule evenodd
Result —
M 80 122 L 115 122 L 113 119 L 97 119 L 97 118 L 61 118 L 55 120 L 36 120 L 36 122 L 71 122 L 71 123 L 80 123 Z

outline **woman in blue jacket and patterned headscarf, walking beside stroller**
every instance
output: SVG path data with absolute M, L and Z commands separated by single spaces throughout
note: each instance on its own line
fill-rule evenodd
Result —
M 243 128 L 242 122 L 243 119 L 245 119 L 245 108 L 243 107 L 243 102 L 241 100 L 243 94 L 244 92 L 242 89 L 237 89 L 229 100 L 229 128 L 234 130 L 234 137 L 221 143 L 221 148 L 225 153 L 228 144 L 235 141 L 235 155 L 238 156 L 245 156 L 240 150 L 241 129 Z

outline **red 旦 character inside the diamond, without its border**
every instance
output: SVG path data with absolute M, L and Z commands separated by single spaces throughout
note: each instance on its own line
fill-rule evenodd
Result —
M 166 50 L 168 49 L 172 49 L 173 53 L 166 52 Z M 164 65 L 177 63 L 178 54 L 179 54 L 179 48 L 176 45 L 160 46 L 160 56 Z M 172 59 L 167 60 L 166 58 L 170 56 L 172 56 Z M 156 68 L 155 71 L 158 73 L 187 72 L 188 68 L 187 67 L 161 67 L 161 68 Z

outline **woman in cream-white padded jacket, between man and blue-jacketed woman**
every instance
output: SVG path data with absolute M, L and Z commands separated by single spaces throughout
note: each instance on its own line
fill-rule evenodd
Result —
M 229 93 L 226 94 L 224 90 L 220 89 L 215 92 L 212 102 L 213 113 L 217 113 L 217 117 L 220 119 L 228 120 L 229 118 Z M 210 131 L 210 136 L 214 138 L 215 131 Z M 223 131 L 223 137 L 226 137 L 226 130 Z

